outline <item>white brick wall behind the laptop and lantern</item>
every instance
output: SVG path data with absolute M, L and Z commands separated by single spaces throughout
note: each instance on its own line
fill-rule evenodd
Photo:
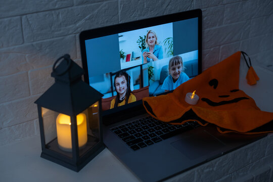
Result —
M 203 70 L 237 51 L 248 53 L 253 64 L 273 70 L 271 0 L 0 0 L 0 4 L 0 145 L 39 135 L 33 102 L 54 82 L 50 73 L 57 58 L 68 53 L 80 64 L 82 30 L 201 8 Z M 195 171 L 195 179 L 202 173 Z M 258 175 L 251 174 L 250 181 Z M 235 180 L 233 172 L 216 179 Z

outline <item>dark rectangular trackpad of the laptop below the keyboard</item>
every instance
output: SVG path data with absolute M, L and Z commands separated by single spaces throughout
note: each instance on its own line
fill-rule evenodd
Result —
M 225 146 L 205 130 L 191 133 L 171 145 L 190 159 L 196 159 Z

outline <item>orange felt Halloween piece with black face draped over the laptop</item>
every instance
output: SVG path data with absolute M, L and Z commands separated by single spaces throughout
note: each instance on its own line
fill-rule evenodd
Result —
M 198 121 L 205 126 L 212 123 L 222 133 L 272 132 L 273 113 L 261 111 L 251 97 L 239 90 L 240 59 L 241 52 L 237 52 L 181 84 L 172 93 L 144 98 L 146 111 L 171 124 Z M 250 72 L 257 80 L 253 68 Z M 194 90 L 199 101 L 190 105 L 185 96 Z

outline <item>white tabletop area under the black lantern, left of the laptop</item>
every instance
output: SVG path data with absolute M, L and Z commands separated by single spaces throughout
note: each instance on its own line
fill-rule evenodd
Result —
M 108 149 L 79 172 L 40 157 L 40 138 L 0 147 L 0 181 L 139 181 Z

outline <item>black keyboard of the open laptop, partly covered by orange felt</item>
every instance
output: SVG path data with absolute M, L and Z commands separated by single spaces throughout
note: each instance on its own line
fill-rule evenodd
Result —
M 111 130 L 132 150 L 139 150 L 198 126 L 196 121 L 172 125 L 149 116 L 113 127 Z

